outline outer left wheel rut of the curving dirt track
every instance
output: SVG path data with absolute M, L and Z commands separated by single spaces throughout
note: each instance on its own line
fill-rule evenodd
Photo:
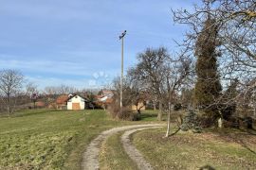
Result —
M 99 166 L 99 153 L 101 144 L 109 136 L 118 133 L 119 131 L 142 128 L 142 127 L 162 127 L 162 124 L 147 124 L 147 125 L 135 125 L 126 127 L 115 127 L 109 130 L 101 132 L 101 134 L 94 139 L 86 148 L 86 151 L 82 155 L 82 170 L 96 170 L 100 169 Z

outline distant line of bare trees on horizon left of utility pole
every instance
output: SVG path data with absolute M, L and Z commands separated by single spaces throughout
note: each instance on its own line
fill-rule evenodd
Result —
M 0 71 L 0 113 L 8 113 L 9 117 L 14 114 L 15 110 L 36 108 L 38 101 L 44 101 L 43 103 L 46 106 L 50 105 L 61 94 L 86 94 L 90 107 L 95 108 L 96 99 L 94 94 L 98 92 L 97 90 L 88 89 L 79 90 L 64 84 L 46 86 L 45 90 L 39 90 L 37 84 L 29 82 L 18 70 L 8 69 Z M 30 105 L 31 103 L 33 106 Z M 98 107 L 101 107 L 101 105 Z

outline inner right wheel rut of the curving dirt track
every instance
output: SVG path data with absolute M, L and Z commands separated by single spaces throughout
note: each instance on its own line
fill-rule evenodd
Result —
M 135 133 L 138 130 L 144 130 L 149 128 L 157 128 L 157 127 L 144 127 L 144 128 L 136 128 L 129 131 L 125 131 L 124 134 L 121 136 L 121 143 L 129 155 L 129 157 L 137 163 L 138 169 L 141 170 L 152 170 L 152 166 L 150 163 L 144 160 L 143 156 L 139 153 L 137 148 L 131 143 L 130 135 Z

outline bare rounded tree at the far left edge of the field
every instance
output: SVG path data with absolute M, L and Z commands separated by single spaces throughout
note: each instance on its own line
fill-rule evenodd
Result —
M 0 94 L 9 113 L 9 117 L 16 107 L 17 95 L 20 93 L 24 76 L 16 70 L 3 70 L 0 72 Z

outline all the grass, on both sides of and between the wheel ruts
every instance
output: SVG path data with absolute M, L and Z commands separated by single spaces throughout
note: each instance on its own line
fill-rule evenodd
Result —
M 156 111 L 142 112 L 141 121 L 111 119 L 104 110 L 25 110 L 0 118 L 0 169 L 80 169 L 86 144 L 101 131 L 154 122 Z M 144 122 L 144 123 L 145 123 Z M 174 127 L 173 127 L 174 129 Z M 256 132 L 207 129 L 201 134 L 176 133 L 162 138 L 165 128 L 143 130 L 133 143 L 155 169 L 254 169 Z M 101 169 L 137 169 L 120 144 L 119 132 L 101 146 Z

